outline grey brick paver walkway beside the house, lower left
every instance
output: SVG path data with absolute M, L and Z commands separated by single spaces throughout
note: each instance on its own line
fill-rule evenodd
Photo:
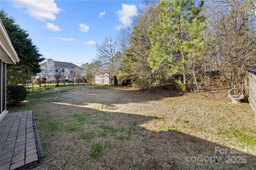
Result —
M 0 169 L 20 169 L 37 163 L 33 111 L 9 113 L 0 124 Z

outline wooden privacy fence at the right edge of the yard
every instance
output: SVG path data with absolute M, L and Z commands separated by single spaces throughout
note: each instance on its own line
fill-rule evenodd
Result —
M 254 111 L 255 121 L 256 121 L 256 75 L 247 72 L 248 79 L 245 81 L 245 93 L 249 97 L 250 105 Z

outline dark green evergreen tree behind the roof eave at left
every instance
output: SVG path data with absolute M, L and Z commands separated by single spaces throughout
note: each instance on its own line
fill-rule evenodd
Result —
M 9 80 L 9 83 L 25 83 L 31 76 L 41 72 L 39 63 L 44 58 L 42 54 L 39 54 L 38 48 L 29 38 L 27 31 L 22 29 L 12 17 L 1 10 L 0 18 L 20 58 L 19 63 L 7 65 L 7 81 Z M 11 75 L 12 81 L 10 81 Z

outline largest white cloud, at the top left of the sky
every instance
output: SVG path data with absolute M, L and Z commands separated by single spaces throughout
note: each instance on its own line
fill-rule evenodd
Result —
M 61 8 L 58 8 L 54 0 L 14 0 L 13 3 L 15 8 L 24 10 L 31 17 L 40 21 L 55 20 L 56 14 L 58 14 L 61 10 Z

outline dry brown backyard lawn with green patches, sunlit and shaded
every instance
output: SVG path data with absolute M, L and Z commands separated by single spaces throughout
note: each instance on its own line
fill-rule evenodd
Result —
M 249 104 L 231 104 L 227 91 L 63 87 L 29 94 L 9 110 L 22 109 L 37 116 L 46 154 L 38 169 L 256 169 L 253 112 Z M 242 154 L 215 154 L 214 147 Z M 198 155 L 222 160 L 186 162 Z M 228 164 L 226 156 L 247 162 Z

